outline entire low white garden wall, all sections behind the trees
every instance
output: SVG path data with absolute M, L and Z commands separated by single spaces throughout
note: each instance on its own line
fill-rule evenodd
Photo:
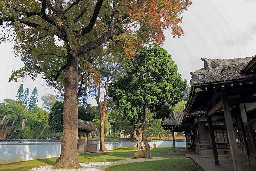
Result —
M 97 150 L 99 151 L 99 142 Z M 151 141 L 150 147 L 172 147 L 172 141 Z M 134 148 L 136 142 L 105 142 L 108 150 L 116 148 Z M 176 147 L 186 147 L 185 140 L 175 140 Z M 0 164 L 20 162 L 34 159 L 45 159 L 59 157 L 61 154 L 60 142 L 1 142 L 0 143 Z

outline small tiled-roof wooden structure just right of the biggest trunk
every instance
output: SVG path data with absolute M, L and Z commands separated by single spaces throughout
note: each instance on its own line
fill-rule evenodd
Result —
M 95 150 L 95 147 L 90 147 L 90 145 L 89 145 L 89 133 L 91 133 L 92 131 L 98 131 L 92 122 L 78 119 L 79 139 L 78 139 L 78 143 L 77 143 L 78 144 L 77 149 L 78 149 L 79 153 L 84 152 L 84 151 L 97 151 L 97 146 L 96 146 L 96 150 Z M 86 141 L 84 139 L 81 139 L 81 137 L 85 136 L 85 135 L 87 137 Z

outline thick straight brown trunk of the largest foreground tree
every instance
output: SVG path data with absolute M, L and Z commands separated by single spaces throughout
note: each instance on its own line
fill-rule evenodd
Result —
M 77 160 L 77 87 L 78 58 L 68 55 L 65 72 L 65 94 L 63 107 L 63 133 L 61 139 L 61 156 L 56 163 L 57 168 L 81 168 Z

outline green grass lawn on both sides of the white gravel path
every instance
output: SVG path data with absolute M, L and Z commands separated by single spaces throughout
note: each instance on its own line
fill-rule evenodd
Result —
M 164 148 L 162 148 L 164 149 Z M 125 149 L 119 149 L 125 150 Z M 128 150 L 128 149 L 127 149 Z M 155 149 L 157 150 L 157 148 Z M 117 151 L 117 150 L 116 150 Z M 123 152 L 123 151 L 122 151 Z M 131 149 L 130 149 L 131 152 Z M 91 159 L 88 159 L 89 157 Z M 120 159 L 133 157 L 131 154 L 84 154 L 79 155 L 78 159 L 81 163 L 87 162 L 107 162 L 116 161 Z M 166 157 L 168 160 L 162 161 L 152 161 L 152 162 L 140 162 L 131 163 L 125 165 L 116 165 L 107 169 L 107 171 L 203 171 L 199 168 L 191 159 L 187 159 L 184 155 L 152 155 L 152 157 Z M 28 171 L 30 168 L 43 166 L 43 165 L 53 165 L 57 158 L 49 159 L 38 159 L 26 162 L 17 162 L 11 164 L 0 165 L 0 171 Z M 171 168 L 171 169 L 170 169 Z

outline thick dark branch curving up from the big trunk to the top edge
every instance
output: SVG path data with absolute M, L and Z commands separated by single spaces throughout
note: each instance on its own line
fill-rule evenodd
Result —
M 103 3 L 103 0 L 98 0 L 94 8 L 93 16 L 91 17 L 90 23 L 88 24 L 88 26 L 82 28 L 82 32 L 79 34 L 79 36 L 89 33 L 93 29 L 93 26 L 95 25 L 99 11 L 102 7 L 102 3 Z

